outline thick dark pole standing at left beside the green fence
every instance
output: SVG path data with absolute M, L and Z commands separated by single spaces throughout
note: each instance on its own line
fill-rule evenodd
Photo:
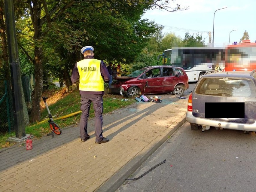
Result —
M 14 128 L 17 138 L 26 136 L 22 103 L 20 60 L 18 55 L 17 36 L 14 22 L 13 0 L 5 0 L 5 22 L 7 27 L 7 43 L 11 66 L 12 96 L 14 103 Z

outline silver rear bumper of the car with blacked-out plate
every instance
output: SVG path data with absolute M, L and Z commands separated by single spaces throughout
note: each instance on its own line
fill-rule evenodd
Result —
M 196 123 L 199 125 L 208 125 L 213 127 L 220 127 L 223 129 L 242 130 L 242 131 L 256 131 L 256 121 L 253 124 L 230 123 L 225 121 L 210 120 L 200 117 L 194 117 L 191 111 L 187 111 L 186 120 L 189 123 Z

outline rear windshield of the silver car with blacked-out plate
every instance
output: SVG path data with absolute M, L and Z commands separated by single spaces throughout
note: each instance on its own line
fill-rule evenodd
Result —
M 255 98 L 256 89 L 251 79 L 203 78 L 195 92 L 202 95 Z

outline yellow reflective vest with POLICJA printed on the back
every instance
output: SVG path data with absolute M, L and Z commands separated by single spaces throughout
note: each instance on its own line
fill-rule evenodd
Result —
M 100 73 L 100 60 L 83 59 L 77 62 L 79 90 L 104 91 L 104 80 Z

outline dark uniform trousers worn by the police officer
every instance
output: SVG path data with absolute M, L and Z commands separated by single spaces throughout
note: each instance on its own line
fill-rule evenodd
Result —
M 80 119 L 80 136 L 81 139 L 86 139 L 87 123 L 89 118 L 90 105 L 93 102 L 95 114 L 95 137 L 96 142 L 102 141 L 102 113 L 103 113 L 103 96 L 99 94 L 81 94 L 81 119 Z

